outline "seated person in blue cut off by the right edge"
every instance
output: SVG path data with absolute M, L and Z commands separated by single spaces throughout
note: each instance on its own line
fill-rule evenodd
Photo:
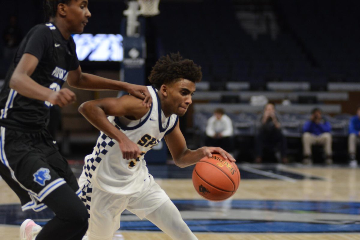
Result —
M 356 115 L 349 121 L 348 153 L 350 157 L 350 166 L 356 167 L 356 145 L 360 140 L 360 107 L 357 108 Z

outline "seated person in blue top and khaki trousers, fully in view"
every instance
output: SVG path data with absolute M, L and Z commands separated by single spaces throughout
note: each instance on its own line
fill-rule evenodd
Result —
M 331 125 L 321 116 L 321 110 L 314 108 L 311 111 L 310 120 L 305 122 L 302 135 L 303 163 L 311 164 L 311 146 L 319 144 L 324 146 L 326 164 L 332 164 L 332 136 Z

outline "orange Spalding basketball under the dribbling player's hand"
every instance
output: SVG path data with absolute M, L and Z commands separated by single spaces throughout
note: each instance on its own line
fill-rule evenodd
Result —
M 235 163 L 224 159 L 220 154 L 204 157 L 193 171 L 195 190 L 203 198 L 222 201 L 230 198 L 238 189 L 240 172 Z

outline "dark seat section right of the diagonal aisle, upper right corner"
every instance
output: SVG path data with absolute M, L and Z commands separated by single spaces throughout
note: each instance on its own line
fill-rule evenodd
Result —
M 359 1 L 276 0 L 290 32 L 330 81 L 359 81 Z

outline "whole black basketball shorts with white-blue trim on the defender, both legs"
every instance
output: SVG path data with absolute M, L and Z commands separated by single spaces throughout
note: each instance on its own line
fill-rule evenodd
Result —
M 47 130 L 29 133 L 0 127 L 0 176 L 18 195 L 22 210 L 40 211 L 41 201 L 63 184 L 81 190 Z

